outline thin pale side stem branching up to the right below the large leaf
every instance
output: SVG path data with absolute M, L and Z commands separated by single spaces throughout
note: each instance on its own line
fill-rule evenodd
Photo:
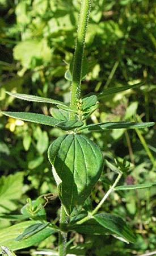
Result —
M 116 187 L 116 184 L 119 182 L 119 180 L 121 179 L 121 176 L 123 175 L 123 172 L 120 172 L 119 175 L 117 176 L 115 182 L 113 183 L 112 187 L 109 188 L 109 190 L 107 191 L 107 193 L 104 195 L 103 199 L 100 201 L 100 203 L 96 206 L 96 208 L 94 210 L 92 210 L 91 213 L 88 214 L 88 216 L 86 216 L 85 218 L 82 218 L 82 220 L 78 221 L 77 224 L 82 224 L 83 222 L 90 220 L 90 218 L 92 218 L 92 216 L 94 216 L 94 214 L 96 212 L 98 212 L 98 210 L 100 209 L 100 207 L 102 207 L 104 201 L 106 201 L 107 197 L 109 196 L 109 194 L 113 191 L 113 189 Z

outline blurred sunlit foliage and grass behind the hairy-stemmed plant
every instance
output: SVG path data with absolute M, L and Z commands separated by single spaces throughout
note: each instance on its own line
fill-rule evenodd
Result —
M 50 114 L 47 105 L 29 103 L 7 96 L 5 91 L 36 94 L 69 102 L 70 81 L 64 75 L 72 60 L 77 28 L 78 0 L 0 0 L 0 107 L 1 110 L 25 110 Z M 155 1 L 92 1 L 86 39 L 89 71 L 82 84 L 82 95 L 102 92 L 104 88 L 135 84 L 146 85 L 100 100 L 100 109 L 92 114 L 94 123 L 105 121 L 155 121 Z M 69 79 L 69 72 L 66 72 Z M 0 112 L 0 213 L 19 214 L 27 197 L 53 192 L 56 184 L 50 170 L 49 143 L 64 134 L 58 128 L 39 126 Z M 90 123 L 90 120 L 87 121 Z M 122 183 L 154 183 L 156 180 L 155 128 L 125 131 L 109 130 L 87 134 L 102 148 L 109 162 L 125 167 Z M 129 172 L 127 172 L 129 170 Z M 96 184 L 87 204 L 96 205 L 111 184 L 109 167 Z M 137 233 L 137 243 L 127 245 L 110 236 L 75 236 L 70 253 L 80 255 L 137 255 L 155 249 L 155 188 L 114 192 L 103 210 L 118 213 Z M 58 221 L 58 197 L 46 206 L 48 218 Z M 0 219 L 0 228 L 12 224 Z M 57 237 L 51 236 L 38 248 L 54 249 Z M 85 244 L 85 246 L 84 246 Z M 111 246 L 113 245 L 113 246 Z M 32 249 L 35 247 L 33 246 Z M 31 252 L 27 252 L 31 255 Z M 22 255 L 22 251 L 17 255 Z

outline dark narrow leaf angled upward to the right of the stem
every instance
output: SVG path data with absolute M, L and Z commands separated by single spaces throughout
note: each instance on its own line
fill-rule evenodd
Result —
M 145 84 L 145 82 L 138 82 L 138 84 L 106 89 L 106 90 L 104 90 L 104 92 L 98 94 L 98 100 L 100 100 L 101 98 L 104 98 L 105 96 L 112 95 L 112 94 L 119 93 L 119 92 L 123 92 L 124 90 L 128 90 L 128 89 L 134 89 L 134 88 L 137 88 L 137 87 L 139 87 L 141 85 L 144 85 L 144 84 Z

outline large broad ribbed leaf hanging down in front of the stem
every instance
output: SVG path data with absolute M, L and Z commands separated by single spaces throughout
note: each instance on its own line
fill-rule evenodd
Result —
M 66 213 L 77 214 L 103 170 L 102 152 L 85 135 L 66 134 L 50 145 L 48 157 Z

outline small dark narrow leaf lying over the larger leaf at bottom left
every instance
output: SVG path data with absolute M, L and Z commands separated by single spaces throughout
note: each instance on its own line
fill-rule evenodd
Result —
M 26 228 L 22 234 L 20 234 L 18 237 L 16 237 L 15 241 L 24 240 L 28 237 L 31 237 L 33 234 L 36 234 L 36 233 L 40 232 L 41 230 L 45 229 L 48 225 L 49 225 L 49 222 L 36 223 L 31 226 L 28 226 L 28 228 Z

